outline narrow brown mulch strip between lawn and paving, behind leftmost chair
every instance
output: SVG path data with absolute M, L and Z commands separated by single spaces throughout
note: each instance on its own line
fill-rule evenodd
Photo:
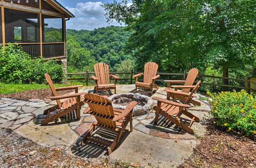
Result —
M 71 92 L 73 92 L 73 90 L 59 91 L 58 95 L 61 96 Z M 50 89 L 34 89 L 34 90 L 28 90 L 28 91 L 23 91 L 19 93 L 0 94 L 0 97 L 12 98 L 17 100 L 29 100 L 29 99 L 44 100 L 50 96 L 52 96 L 52 91 Z

